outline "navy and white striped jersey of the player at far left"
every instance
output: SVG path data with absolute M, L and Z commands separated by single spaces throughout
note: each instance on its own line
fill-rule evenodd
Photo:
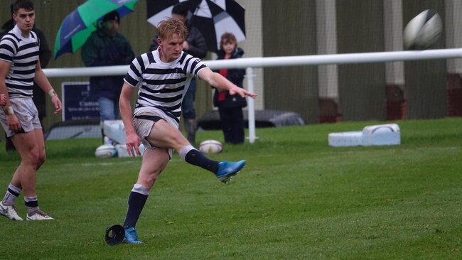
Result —
M 10 97 L 32 98 L 33 78 L 36 75 L 39 43 L 36 33 L 28 38 L 18 26 L 0 40 L 0 60 L 11 63 L 5 84 Z

